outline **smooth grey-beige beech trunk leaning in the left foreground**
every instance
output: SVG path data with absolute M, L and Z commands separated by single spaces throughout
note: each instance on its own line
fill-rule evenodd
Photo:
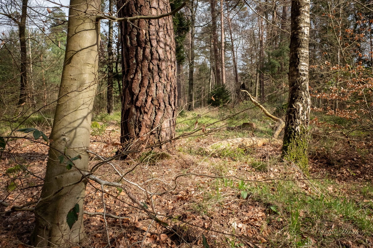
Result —
M 79 172 L 88 170 L 91 111 L 97 86 L 100 0 L 71 0 L 66 54 L 50 135 L 46 177 L 41 200 L 35 207 L 35 247 L 72 247 L 84 238 L 85 182 Z M 59 157 L 65 156 L 60 163 Z M 68 170 L 66 160 L 81 156 Z M 78 182 L 78 183 L 77 183 Z M 74 184 L 75 183 L 75 184 Z M 70 184 L 70 186 L 68 186 Z M 67 186 L 67 187 L 66 187 Z M 79 204 L 78 220 L 70 229 L 66 216 Z

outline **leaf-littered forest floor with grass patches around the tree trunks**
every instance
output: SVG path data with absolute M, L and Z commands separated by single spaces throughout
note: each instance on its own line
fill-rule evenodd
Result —
M 177 134 L 193 134 L 176 140 L 175 149 L 112 161 L 127 180 L 145 189 L 128 184 L 163 224 L 139 210 L 120 189 L 105 186 L 102 192 L 90 182 L 84 210 L 127 218 L 85 215 L 87 241 L 82 247 L 373 247 L 371 141 L 347 139 L 312 124 L 309 168 L 301 171 L 281 160 L 276 143 L 206 152 L 216 141 L 253 133 L 218 127 L 250 120 L 256 123 L 254 135 L 270 136 L 274 123 L 258 110 L 200 109 L 181 116 Z M 93 125 L 91 151 L 105 158 L 115 154 L 117 117 L 96 117 L 102 123 Z M 210 123 L 215 124 L 207 127 Z M 202 132 L 203 125 L 216 129 Z M 0 199 L 30 202 L 40 194 L 47 146 L 25 139 L 8 146 L 11 152 L 0 161 Z M 99 161 L 92 155 L 91 166 Z M 109 164 L 96 174 L 108 181 L 120 178 Z M 149 192 L 166 193 L 150 197 Z M 0 214 L 0 247 L 28 247 L 33 223 L 31 212 Z

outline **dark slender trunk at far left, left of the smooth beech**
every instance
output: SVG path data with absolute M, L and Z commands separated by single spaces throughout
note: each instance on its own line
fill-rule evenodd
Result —
M 19 25 L 19 45 L 21 51 L 21 84 L 19 90 L 18 105 L 23 105 L 26 103 L 27 99 L 27 50 L 26 50 L 26 19 L 27 19 L 27 3 L 28 0 L 22 0 L 22 13 L 21 21 Z

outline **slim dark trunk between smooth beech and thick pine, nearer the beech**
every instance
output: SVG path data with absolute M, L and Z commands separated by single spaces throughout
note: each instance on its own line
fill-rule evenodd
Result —
M 109 13 L 113 15 L 113 0 L 109 0 Z M 112 115 L 114 112 L 113 96 L 113 22 L 109 20 L 109 32 L 107 41 L 107 113 Z

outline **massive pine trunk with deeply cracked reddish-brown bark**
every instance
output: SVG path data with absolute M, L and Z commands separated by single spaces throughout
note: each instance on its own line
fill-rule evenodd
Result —
M 168 0 L 119 0 L 119 17 L 170 12 Z M 120 23 L 122 30 L 121 143 L 141 138 L 160 149 L 173 146 L 176 124 L 176 58 L 172 16 Z

